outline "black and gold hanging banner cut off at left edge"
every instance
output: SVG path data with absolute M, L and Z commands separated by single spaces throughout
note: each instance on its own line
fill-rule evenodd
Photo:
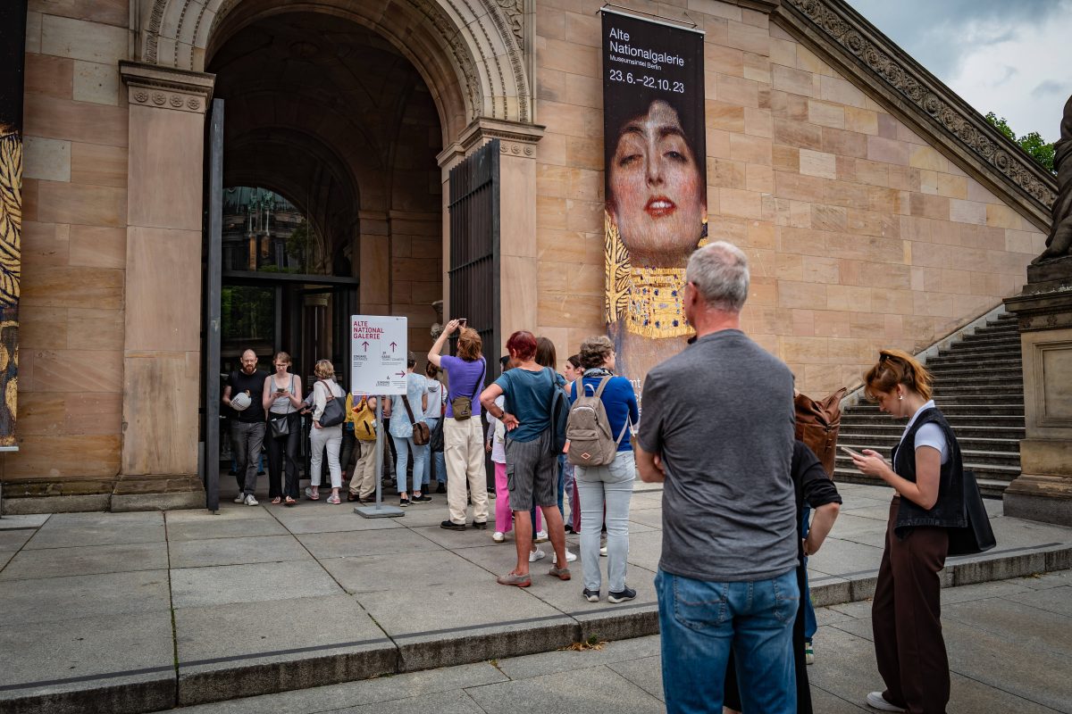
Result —
M 0 450 L 15 447 L 27 0 L 0 2 Z

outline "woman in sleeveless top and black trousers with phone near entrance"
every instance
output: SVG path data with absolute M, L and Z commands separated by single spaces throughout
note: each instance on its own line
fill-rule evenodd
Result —
M 264 408 L 268 412 L 265 434 L 268 449 L 268 497 L 274 504 L 298 502 L 298 439 L 301 438 L 301 380 L 291 374 L 291 355 L 278 352 L 274 374 L 265 380 Z M 274 426 L 273 426 L 274 425 Z M 276 436 L 280 432 L 279 436 Z M 283 469 L 286 484 L 283 485 Z M 282 487 L 281 487 L 282 486 Z

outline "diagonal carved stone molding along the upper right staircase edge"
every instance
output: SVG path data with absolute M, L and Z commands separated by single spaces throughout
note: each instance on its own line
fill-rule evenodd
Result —
M 778 17 L 809 45 L 818 41 L 824 55 L 839 54 L 837 64 L 914 115 L 917 124 L 988 173 L 991 183 L 1003 183 L 1003 193 L 1018 198 L 1032 223 L 1048 227 L 1054 177 L 844 0 L 781 0 Z

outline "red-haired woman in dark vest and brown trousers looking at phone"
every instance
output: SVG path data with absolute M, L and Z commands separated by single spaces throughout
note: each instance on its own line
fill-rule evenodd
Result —
M 882 350 L 864 376 L 864 392 L 908 425 L 888 464 L 878 452 L 851 454 L 853 465 L 896 489 L 890 504 L 872 626 L 883 692 L 867 705 L 884 712 L 943 714 L 949 658 L 941 634 L 941 582 L 949 528 L 966 525 L 964 464 L 953 429 L 930 398 L 932 377 L 910 354 Z

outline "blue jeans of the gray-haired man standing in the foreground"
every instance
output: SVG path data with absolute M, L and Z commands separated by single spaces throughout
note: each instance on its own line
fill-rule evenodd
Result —
M 795 568 L 770 580 L 741 582 L 694 580 L 659 568 L 655 592 L 669 714 L 723 710 L 731 648 L 744 711 L 795 714 Z

